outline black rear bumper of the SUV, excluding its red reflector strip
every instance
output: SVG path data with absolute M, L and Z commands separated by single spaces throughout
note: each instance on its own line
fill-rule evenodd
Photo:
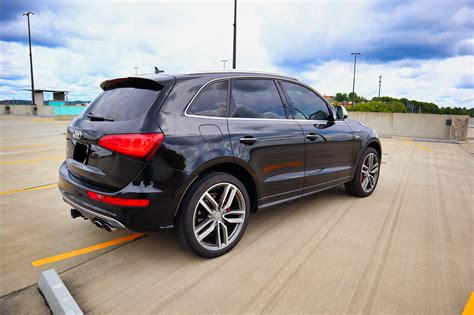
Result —
M 126 228 L 135 232 L 151 232 L 173 226 L 181 194 L 190 179 L 186 173 L 150 165 L 123 189 L 110 192 L 81 181 L 73 176 L 64 162 L 59 168 L 59 190 L 63 200 L 73 209 L 91 220 L 106 221 L 114 228 Z M 163 170 L 161 169 L 163 168 Z M 155 176 L 150 174 L 162 174 Z M 145 177 L 145 180 L 141 180 Z M 120 198 L 149 199 L 147 207 L 123 207 L 91 199 L 87 191 L 94 191 Z

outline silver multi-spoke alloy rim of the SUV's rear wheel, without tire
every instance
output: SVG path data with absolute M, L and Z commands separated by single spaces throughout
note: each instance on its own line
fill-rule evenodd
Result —
M 194 209 L 196 240 L 208 250 L 221 250 L 239 236 L 245 221 L 245 199 L 237 186 L 218 183 L 210 187 Z

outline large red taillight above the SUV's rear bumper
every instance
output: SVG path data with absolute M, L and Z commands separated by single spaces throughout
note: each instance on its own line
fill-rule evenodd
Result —
M 103 136 L 99 145 L 136 158 L 151 158 L 165 139 L 162 133 L 137 133 Z

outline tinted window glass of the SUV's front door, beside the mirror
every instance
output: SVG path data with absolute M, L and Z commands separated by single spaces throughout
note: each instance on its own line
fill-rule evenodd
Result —
M 313 91 L 294 83 L 282 82 L 293 105 L 296 119 L 328 120 L 330 117 L 326 102 Z

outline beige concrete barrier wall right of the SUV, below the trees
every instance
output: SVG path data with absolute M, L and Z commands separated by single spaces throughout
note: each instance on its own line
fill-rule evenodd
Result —
M 349 118 L 374 128 L 380 135 L 440 140 L 466 140 L 469 125 L 465 115 L 349 112 Z M 446 125 L 448 119 L 451 126 Z

